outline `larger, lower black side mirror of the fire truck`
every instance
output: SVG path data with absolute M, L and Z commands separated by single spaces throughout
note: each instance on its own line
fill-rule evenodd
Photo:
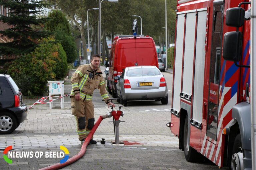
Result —
M 242 33 L 227 32 L 224 35 L 223 58 L 230 61 L 240 61 L 242 52 Z

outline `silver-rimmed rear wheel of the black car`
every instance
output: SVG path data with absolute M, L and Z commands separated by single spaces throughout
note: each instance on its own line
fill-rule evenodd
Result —
M 17 120 L 11 113 L 0 113 L 0 134 L 10 134 L 16 128 Z

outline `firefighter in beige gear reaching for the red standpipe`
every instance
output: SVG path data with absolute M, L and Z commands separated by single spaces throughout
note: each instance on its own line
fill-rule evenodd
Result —
M 110 105 L 115 107 L 113 103 L 108 101 L 109 97 L 99 64 L 100 56 L 94 54 L 91 63 L 79 66 L 71 77 L 71 109 L 72 115 L 76 119 L 77 134 L 81 144 L 84 143 L 85 138 L 94 126 L 93 91 L 99 89 L 101 97 L 108 107 Z M 92 138 L 89 143 L 96 144 L 97 141 Z

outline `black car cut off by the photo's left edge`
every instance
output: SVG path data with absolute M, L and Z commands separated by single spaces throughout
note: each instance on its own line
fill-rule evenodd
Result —
M 27 117 L 21 89 L 10 75 L 0 74 L 0 134 L 10 134 Z

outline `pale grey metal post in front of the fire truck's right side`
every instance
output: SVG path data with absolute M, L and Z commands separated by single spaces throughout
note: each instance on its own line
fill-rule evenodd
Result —
M 252 169 L 256 170 L 256 0 L 251 1 L 251 144 L 252 144 Z

